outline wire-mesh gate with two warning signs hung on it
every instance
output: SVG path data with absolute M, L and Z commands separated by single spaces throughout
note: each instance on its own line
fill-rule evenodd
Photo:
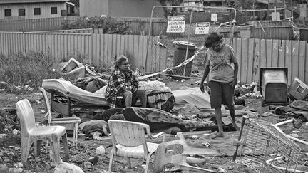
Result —
M 162 19 L 159 26 L 152 23 L 157 19 Z M 235 19 L 236 10 L 228 7 L 154 6 L 148 33 L 159 35 L 160 43 L 168 48 L 168 75 L 175 79 L 202 78 L 207 48 L 200 48 L 205 34 L 218 31 L 230 38 L 225 41 L 232 41 Z M 148 55 L 145 64 L 152 61 Z

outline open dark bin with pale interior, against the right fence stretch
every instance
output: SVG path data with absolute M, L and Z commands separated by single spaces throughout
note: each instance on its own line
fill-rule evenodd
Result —
M 260 69 L 262 106 L 265 104 L 287 105 L 287 70 L 287 68 Z

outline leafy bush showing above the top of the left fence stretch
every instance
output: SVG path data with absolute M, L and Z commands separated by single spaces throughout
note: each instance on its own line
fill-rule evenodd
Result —
M 103 28 L 103 33 L 107 34 L 131 34 L 132 31 L 128 24 L 118 22 L 111 17 L 80 17 L 76 21 L 66 21 L 62 23 L 63 29 L 78 28 Z

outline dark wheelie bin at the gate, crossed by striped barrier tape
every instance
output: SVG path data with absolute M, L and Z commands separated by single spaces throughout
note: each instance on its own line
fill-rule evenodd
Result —
M 197 49 L 195 44 L 187 42 L 187 41 L 177 41 L 173 42 L 175 44 L 175 51 L 173 56 L 173 67 L 183 63 L 186 58 L 186 50 L 188 46 L 188 56 L 187 59 L 192 57 L 195 54 L 195 50 Z M 173 70 L 173 75 L 181 75 L 190 77 L 191 70 L 193 66 L 193 61 L 190 61 L 188 64 L 183 65 L 182 67 L 175 68 Z M 185 70 L 185 74 L 184 74 Z

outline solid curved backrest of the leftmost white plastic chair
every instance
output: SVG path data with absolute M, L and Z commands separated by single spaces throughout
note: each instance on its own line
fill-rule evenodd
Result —
M 19 102 L 16 103 L 16 108 L 17 116 L 21 121 L 21 132 L 27 135 L 29 134 L 29 130 L 36 127 L 34 111 L 27 99 L 19 100 Z

